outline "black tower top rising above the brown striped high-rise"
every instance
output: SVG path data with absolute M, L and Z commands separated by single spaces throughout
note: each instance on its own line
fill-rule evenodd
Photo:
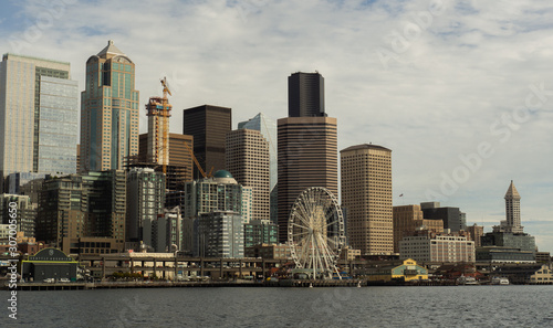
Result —
M 288 116 L 326 116 L 324 78 L 321 74 L 298 72 L 288 77 Z

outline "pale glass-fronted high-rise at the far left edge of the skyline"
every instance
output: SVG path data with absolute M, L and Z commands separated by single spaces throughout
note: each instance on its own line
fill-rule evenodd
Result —
M 0 63 L 0 171 L 74 173 L 77 83 L 70 63 L 4 54 Z

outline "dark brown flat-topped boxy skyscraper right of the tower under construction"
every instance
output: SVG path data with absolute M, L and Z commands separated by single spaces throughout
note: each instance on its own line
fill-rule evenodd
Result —
M 202 105 L 184 110 L 184 135 L 194 137 L 194 155 L 206 173 L 225 169 L 225 139 L 232 125 L 231 109 Z M 200 179 L 197 168 L 194 178 Z

